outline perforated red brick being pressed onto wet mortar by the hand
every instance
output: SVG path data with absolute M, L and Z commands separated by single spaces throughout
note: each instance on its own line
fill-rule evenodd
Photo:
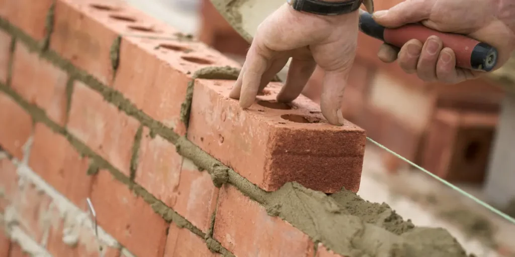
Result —
M 364 130 L 349 121 L 343 126 L 330 125 L 320 107 L 302 96 L 293 102 L 293 109 L 255 103 L 243 110 L 228 97 L 233 84 L 196 80 L 188 139 L 267 191 L 277 190 L 288 181 L 326 193 L 344 186 L 358 190 Z M 270 102 L 279 91 L 278 83 L 270 84 L 267 90 L 269 94 L 259 99 L 285 106 Z

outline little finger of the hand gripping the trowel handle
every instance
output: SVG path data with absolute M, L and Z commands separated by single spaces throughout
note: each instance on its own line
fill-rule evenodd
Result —
M 474 78 L 471 70 L 456 68 L 456 56 L 451 48 L 443 48 L 436 64 L 436 77 L 444 83 L 455 84 Z

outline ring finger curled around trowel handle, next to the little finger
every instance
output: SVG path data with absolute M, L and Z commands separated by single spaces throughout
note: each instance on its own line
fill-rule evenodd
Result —
M 442 41 L 438 36 L 430 36 L 422 47 L 419 61 L 417 63 L 417 75 L 424 81 L 435 81 L 436 77 L 436 62 L 438 56 L 443 48 Z

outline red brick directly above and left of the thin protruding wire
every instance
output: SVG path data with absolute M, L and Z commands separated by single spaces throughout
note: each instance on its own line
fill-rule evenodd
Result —
M 85 199 L 91 187 L 91 176 L 86 173 L 88 158 L 81 158 L 64 136 L 54 133 L 43 123 L 36 124 L 29 166 L 50 186 L 85 210 Z

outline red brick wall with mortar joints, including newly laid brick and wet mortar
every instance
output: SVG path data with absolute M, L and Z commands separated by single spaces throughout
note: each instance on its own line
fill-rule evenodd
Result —
M 0 6 L 0 257 L 466 256 L 356 196 L 364 131 L 280 83 L 242 111 L 235 62 L 122 2 Z

